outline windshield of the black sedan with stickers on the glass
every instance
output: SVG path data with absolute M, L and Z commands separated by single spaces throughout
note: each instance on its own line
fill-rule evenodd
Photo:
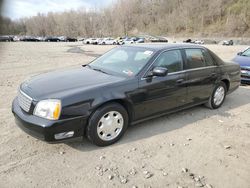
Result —
M 92 69 L 124 76 L 135 76 L 147 64 L 154 52 L 138 47 L 117 47 L 94 60 Z

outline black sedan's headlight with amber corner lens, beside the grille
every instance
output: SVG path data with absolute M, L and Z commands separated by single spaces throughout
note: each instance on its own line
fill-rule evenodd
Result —
M 39 101 L 33 114 L 49 120 L 58 120 L 61 114 L 61 101 L 56 99 Z

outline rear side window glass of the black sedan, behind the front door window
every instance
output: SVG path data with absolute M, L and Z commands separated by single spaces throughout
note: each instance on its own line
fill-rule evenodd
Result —
M 214 63 L 203 49 L 186 49 L 187 69 L 213 66 Z

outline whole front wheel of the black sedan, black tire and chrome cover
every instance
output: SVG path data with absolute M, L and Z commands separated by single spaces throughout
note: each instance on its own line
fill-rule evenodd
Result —
M 128 122 L 128 113 L 125 108 L 118 103 L 110 103 L 98 108 L 91 115 L 86 127 L 86 136 L 97 146 L 108 146 L 123 136 Z

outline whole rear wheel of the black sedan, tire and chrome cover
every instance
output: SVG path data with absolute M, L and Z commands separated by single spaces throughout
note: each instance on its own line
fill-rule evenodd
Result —
M 224 82 L 220 82 L 214 88 L 212 95 L 210 96 L 208 102 L 205 105 L 210 109 L 217 109 L 221 107 L 221 105 L 225 101 L 226 94 L 227 94 L 226 84 Z

